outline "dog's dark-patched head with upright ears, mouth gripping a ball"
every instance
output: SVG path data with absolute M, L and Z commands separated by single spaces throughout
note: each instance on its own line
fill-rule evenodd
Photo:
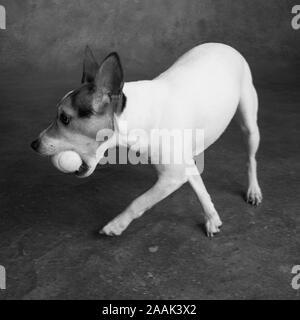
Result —
M 97 165 L 100 130 L 113 130 L 114 113 L 122 104 L 123 70 L 117 53 L 109 54 L 101 65 L 89 47 L 85 51 L 82 85 L 65 95 L 57 106 L 57 116 L 31 146 L 41 155 L 54 156 L 67 150 L 77 152 L 82 166 L 76 175 L 87 177 Z

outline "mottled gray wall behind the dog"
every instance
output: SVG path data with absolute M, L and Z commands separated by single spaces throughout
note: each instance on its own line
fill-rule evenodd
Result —
M 256 78 L 264 81 L 274 81 L 275 73 L 288 78 L 300 58 L 300 30 L 291 28 L 296 0 L 0 0 L 0 4 L 7 10 L 7 30 L 0 30 L 0 70 L 78 70 L 86 44 L 100 60 L 109 51 L 118 51 L 128 78 L 151 78 L 187 49 L 207 41 L 237 48 Z

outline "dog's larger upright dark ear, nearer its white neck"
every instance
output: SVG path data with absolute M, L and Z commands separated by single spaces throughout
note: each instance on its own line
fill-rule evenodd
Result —
M 102 62 L 95 78 L 97 91 L 103 95 L 118 95 L 123 89 L 123 68 L 116 52 L 110 53 Z

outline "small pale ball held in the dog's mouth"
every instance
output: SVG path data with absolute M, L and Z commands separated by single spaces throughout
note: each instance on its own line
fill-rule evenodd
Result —
M 71 173 L 79 170 L 82 165 L 80 155 L 75 151 L 64 151 L 52 157 L 53 165 L 64 173 Z

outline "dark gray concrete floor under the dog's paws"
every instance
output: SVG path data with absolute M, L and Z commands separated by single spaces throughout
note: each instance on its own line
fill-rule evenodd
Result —
M 258 154 L 264 202 L 243 200 L 245 153 L 233 124 L 205 154 L 204 180 L 223 220 L 208 239 L 189 185 L 120 238 L 97 235 L 155 180 L 150 166 L 63 175 L 29 143 L 77 82 L 1 77 L 1 299 L 299 299 L 300 92 L 260 87 Z M 41 80 L 42 79 L 42 80 Z

